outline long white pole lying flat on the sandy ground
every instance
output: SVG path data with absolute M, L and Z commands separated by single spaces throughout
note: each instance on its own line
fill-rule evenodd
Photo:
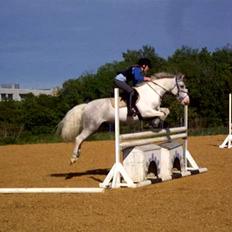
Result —
M 100 193 L 103 188 L 0 188 L 0 193 Z

